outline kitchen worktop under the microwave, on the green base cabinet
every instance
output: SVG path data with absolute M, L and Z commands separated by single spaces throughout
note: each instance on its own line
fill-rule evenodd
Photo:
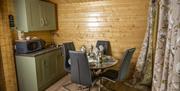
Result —
M 44 53 L 53 51 L 53 50 L 60 50 L 61 47 L 50 47 L 50 48 L 45 48 L 36 52 L 32 52 L 32 53 L 27 53 L 27 54 L 16 54 L 16 56 L 27 56 L 27 57 L 35 57 L 38 55 L 42 55 Z

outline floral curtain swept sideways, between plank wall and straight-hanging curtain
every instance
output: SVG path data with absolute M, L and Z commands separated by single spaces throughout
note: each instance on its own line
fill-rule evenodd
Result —
M 152 83 L 152 66 L 157 32 L 157 11 L 157 0 L 150 0 L 147 31 L 136 63 L 133 79 L 130 80 L 130 84 L 128 84 L 140 89 L 151 87 Z

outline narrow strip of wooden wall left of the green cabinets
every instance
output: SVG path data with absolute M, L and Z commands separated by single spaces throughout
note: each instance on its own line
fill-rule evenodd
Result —
M 2 60 L 0 60 L 0 78 L 2 91 L 17 91 L 16 72 L 14 65 L 14 53 L 12 45 L 12 32 L 9 29 L 8 15 L 13 14 L 13 4 L 11 0 L 0 0 L 0 50 Z

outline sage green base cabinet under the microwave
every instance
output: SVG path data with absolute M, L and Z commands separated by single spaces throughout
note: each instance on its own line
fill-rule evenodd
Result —
M 44 91 L 66 74 L 63 64 L 59 48 L 16 55 L 19 90 Z

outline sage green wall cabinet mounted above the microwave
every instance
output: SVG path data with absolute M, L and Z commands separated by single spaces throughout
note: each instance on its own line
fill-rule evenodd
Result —
M 40 0 L 16 0 L 18 31 L 56 30 L 55 4 Z

